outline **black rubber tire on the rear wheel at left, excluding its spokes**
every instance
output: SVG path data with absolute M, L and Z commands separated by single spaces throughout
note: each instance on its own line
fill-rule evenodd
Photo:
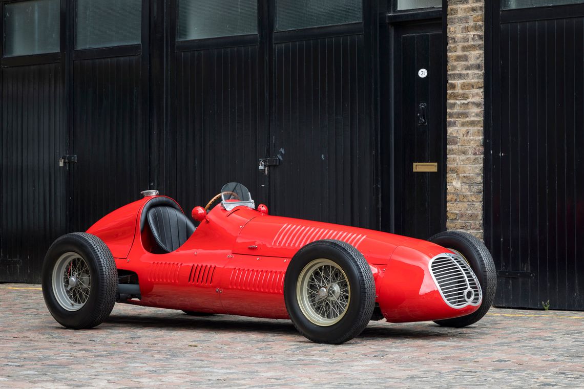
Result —
M 55 295 L 59 293 L 60 286 L 54 285 L 53 282 L 55 266 L 67 261 L 65 258 L 67 255 L 75 258 L 69 253 L 78 254 L 89 269 L 90 285 L 86 288 L 89 295 L 77 310 L 64 308 L 63 298 Z M 51 315 L 63 327 L 75 330 L 95 327 L 109 316 L 116 303 L 118 283 L 116 262 L 106 244 L 92 234 L 76 232 L 55 240 L 44 258 L 42 280 L 44 302 Z

